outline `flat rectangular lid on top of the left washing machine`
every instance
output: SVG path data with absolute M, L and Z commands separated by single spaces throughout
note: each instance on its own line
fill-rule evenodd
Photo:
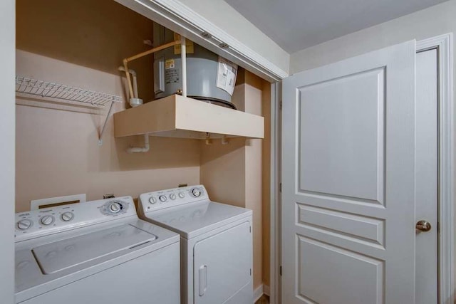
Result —
M 33 248 L 32 251 L 41 271 L 49 274 L 155 239 L 157 237 L 153 234 L 124 224 L 47 243 Z

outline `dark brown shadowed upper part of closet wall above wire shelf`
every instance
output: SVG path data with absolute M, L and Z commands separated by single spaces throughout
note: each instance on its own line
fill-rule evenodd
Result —
M 120 75 L 123 58 L 146 51 L 152 21 L 113 0 L 17 0 L 16 48 Z M 139 95 L 152 100 L 152 56 L 130 63 Z

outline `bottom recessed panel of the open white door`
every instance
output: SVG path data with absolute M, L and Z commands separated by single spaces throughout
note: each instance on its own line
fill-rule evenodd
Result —
M 318 303 L 366 303 L 366 299 L 383 303 L 384 261 L 305 236 L 299 236 L 298 242 L 299 256 L 306 257 L 299 267 L 299 295 L 304 303 L 316 303 L 306 295 Z M 323 286 L 331 286 L 331 292 Z

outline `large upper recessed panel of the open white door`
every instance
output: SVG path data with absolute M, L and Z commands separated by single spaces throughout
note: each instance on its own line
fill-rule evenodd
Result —
M 384 77 L 380 68 L 298 89 L 300 192 L 383 204 Z

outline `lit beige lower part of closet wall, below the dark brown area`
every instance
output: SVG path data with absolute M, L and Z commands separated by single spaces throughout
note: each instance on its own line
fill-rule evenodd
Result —
M 118 75 L 24 51 L 16 54 L 17 73 L 123 94 Z M 80 193 L 89 200 L 106 193 L 137 197 L 178 184 L 199 184 L 198 140 L 151 137 L 149 152 L 128 154 L 125 150 L 142 145 L 142 138 L 114 138 L 112 116 L 98 146 L 106 110 L 90 114 L 39 100 L 16 100 L 16 212 L 28 210 L 31 199 Z M 123 108 L 125 103 L 115 110 Z

